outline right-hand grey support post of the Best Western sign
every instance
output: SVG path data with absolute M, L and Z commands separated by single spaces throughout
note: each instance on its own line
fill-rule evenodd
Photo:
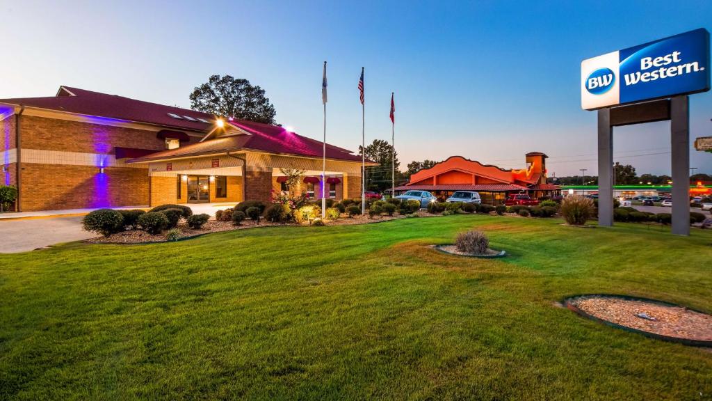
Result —
M 672 233 L 690 235 L 690 103 L 689 96 L 670 101 L 672 158 Z

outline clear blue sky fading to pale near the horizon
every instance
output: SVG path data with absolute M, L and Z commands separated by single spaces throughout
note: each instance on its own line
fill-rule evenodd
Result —
M 557 176 L 596 173 L 596 113 L 580 108 L 580 61 L 704 27 L 712 1 L 0 0 L 0 98 L 60 85 L 189 107 L 211 74 L 262 86 L 277 120 L 327 141 L 390 139 L 402 166 L 461 155 L 521 168 L 543 151 Z M 691 143 L 712 136 L 712 92 L 691 96 Z M 615 160 L 670 170 L 669 123 L 617 128 Z M 691 150 L 712 173 L 712 153 Z

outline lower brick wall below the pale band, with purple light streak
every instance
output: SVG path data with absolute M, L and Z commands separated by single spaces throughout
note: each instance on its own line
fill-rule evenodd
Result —
M 23 163 L 21 174 L 22 211 L 148 204 L 143 168 Z

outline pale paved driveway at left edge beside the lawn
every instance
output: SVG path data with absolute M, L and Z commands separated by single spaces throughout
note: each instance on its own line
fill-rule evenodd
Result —
M 0 220 L 0 253 L 25 252 L 56 243 L 93 238 L 82 230 L 81 215 Z

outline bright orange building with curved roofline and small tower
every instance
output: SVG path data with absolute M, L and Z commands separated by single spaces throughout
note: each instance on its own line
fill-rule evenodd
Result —
M 547 157 L 541 152 L 527 153 L 526 168 L 506 170 L 462 156 L 451 156 L 414 173 L 409 183 L 395 191 L 429 191 L 442 199 L 455 191 L 476 191 L 483 203 L 495 205 L 503 203 L 511 193 L 528 193 L 532 198 L 557 196 L 559 187 L 546 183 Z

